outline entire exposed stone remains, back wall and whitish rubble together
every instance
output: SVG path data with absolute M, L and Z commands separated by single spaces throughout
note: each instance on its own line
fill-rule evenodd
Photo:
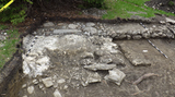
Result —
M 38 28 L 34 33 L 37 39 L 31 52 L 22 56 L 23 73 L 33 78 L 28 81 L 33 86 L 23 84 L 22 87 L 28 94 L 34 94 L 35 86 L 45 94 L 51 88 L 54 92 L 50 97 L 65 97 L 62 89 L 101 83 L 104 76 L 105 81 L 120 85 L 126 74 L 117 68 L 128 65 L 126 60 L 133 65 L 151 65 L 149 60 L 143 60 L 145 58 L 142 53 L 132 53 L 125 43 L 117 45 L 113 39 L 174 38 L 173 28 L 170 31 L 166 25 L 143 28 L 137 23 L 48 22 L 43 26 L 48 28 Z M 24 37 L 25 51 L 30 50 L 33 39 L 32 35 Z M 98 71 L 108 71 L 108 74 Z

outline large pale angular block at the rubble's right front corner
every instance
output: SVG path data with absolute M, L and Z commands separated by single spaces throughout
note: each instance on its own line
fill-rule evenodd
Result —
M 118 69 L 113 69 L 108 72 L 109 75 L 106 75 L 104 78 L 107 81 L 115 82 L 117 85 L 120 85 L 121 81 L 126 76 L 126 74 Z

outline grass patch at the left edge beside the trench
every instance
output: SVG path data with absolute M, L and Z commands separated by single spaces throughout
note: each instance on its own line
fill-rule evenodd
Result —
M 0 29 L 8 28 L 4 25 L 0 25 Z M 8 62 L 13 53 L 16 51 L 16 44 L 20 41 L 20 34 L 18 29 L 8 29 L 8 37 L 5 40 L 0 41 L 0 45 L 3 44 L 3 47 L 0 47 L 0 70 L 3 68 L 5 62 Z

